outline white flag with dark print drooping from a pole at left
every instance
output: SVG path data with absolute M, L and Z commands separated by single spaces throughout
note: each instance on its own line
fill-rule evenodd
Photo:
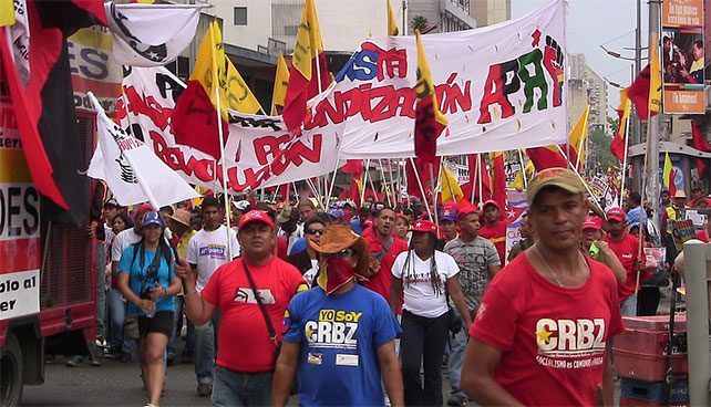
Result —
M 103 179 L 122 206 L 150 201 L 163 207 L 198 197 L 177 173 L 161 160 L 143 142 L 112 122 L 91 92 L 97 112 L 99 146 L 87 175 Z

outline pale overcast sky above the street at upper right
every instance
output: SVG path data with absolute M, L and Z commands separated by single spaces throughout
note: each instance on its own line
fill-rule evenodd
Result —
M 647 1 L 642 6 L 642 46 L 647 46 Z M 539 8 L 544 0 L 512 0 L 512 18 L 516 19 Z M 632 61 L 609 56 L 600 44 L 624 56 L 635 58 L 635 27 L 637 25 L 636 0 L 569 0 L 568 53 L 583 53 L 585 60 L 600 76 L 622 86 L 631 83 Z M 646 51 L 642 51 L 646 55 Z M 646 65 L 642 62 L 642 67 Z M 608 85 L 608 104 L 615 109 L 619 104 L 619 90 Z M 608 112 L 610 112 L 608 107 Z

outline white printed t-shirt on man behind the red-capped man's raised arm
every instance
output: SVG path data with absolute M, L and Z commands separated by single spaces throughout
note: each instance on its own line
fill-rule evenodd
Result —
M 233 247 L 233 258 L 239 255 L 239 243 L 237 242 L 237 233 L 229 230 L 229 239 Z M 187 243 L 186 260 L 190 264 L 197 265 L 197 283 L 195 290 L 203 291 L 203 288 L 213 276 L 215 270 L 220 265 L 230 262 L 228 259 L 229 251 L 227 250 L 227 227 L 220 225 L 213 231 L 200 229 Z

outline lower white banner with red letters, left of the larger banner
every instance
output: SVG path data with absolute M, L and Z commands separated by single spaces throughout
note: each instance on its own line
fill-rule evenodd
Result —
M 221 190 L 221 167 L 215 171 L 210 156 L 175 143 L 171 114 L 184 88 L 165 67 L 133 67 L 123 82 L 116 118 L 187 181 Z M 343 124 L 289 134 L 280 117 L 228 112 L 225 157 L 231 192 L 278 186 L 336 168 Z

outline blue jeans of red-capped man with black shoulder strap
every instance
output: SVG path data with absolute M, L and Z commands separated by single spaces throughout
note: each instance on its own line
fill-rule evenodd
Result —
M 270 406 L 272 372 L 241 373 L 215 366 L 213 406 Z

